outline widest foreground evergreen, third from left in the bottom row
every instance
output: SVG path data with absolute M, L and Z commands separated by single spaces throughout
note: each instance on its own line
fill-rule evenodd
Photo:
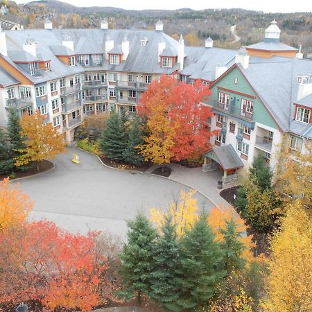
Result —
M 220 243 L 202 214 L 181 241 L 180 298 L 174 311 L 203 311 L 222 288 L 225 270 Z

